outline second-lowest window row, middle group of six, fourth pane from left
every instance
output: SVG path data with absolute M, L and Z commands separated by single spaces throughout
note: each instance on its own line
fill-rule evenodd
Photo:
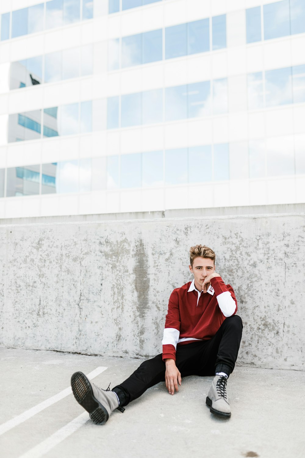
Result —
M 165 120 L 187 118 L 187 85 L 165 88 Z

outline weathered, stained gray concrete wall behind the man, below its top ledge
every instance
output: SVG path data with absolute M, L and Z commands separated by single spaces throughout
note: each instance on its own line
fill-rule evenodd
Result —
M 161 352 L 188 248 L 216 252 L 244 331 L 239 364 L 304 370 L 305 215 L 0 226 L 0 346 Z

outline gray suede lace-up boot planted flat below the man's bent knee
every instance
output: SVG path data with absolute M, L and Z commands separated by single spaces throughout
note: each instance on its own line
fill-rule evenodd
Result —
M 230 418 L 231 410 L 226 393 L 227 378 L 215 375 L 205 403 L 212 414 L 223 418 Z

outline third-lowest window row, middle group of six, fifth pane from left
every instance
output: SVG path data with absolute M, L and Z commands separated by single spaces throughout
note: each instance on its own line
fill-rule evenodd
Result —
M 209 18 L 187 24 L 187 54 L 210 50 Z

